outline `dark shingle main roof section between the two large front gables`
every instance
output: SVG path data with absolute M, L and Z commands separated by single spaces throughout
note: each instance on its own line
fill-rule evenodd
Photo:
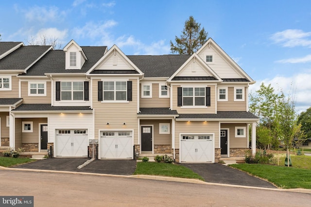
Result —
M 127 55 L 145 77 L 171 77 L 190 55 Z

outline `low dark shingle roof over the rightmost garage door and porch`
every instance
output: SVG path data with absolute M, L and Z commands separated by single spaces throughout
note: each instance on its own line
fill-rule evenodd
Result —
M 217 111 L 217 114 L 179 114 L 180 119 L 258 119 L 249 111 Z

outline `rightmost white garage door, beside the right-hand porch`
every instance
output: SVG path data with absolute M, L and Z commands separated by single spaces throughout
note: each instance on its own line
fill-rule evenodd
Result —
M 214 162 L 213 135 L 181 135 L 181 162 Z

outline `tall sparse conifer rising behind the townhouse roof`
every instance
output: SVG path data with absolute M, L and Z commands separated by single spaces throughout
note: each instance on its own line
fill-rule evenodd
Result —
M 185 22 L 184 30 L 180 37 L 175 36 L 175 44 L 171 41 L 172 53 L 192 55 L 201 48 L 207 41 L 208 33 L 204 27 L 201 30 L 201 24 L 197 23 L 193 16 L 190 16 Z

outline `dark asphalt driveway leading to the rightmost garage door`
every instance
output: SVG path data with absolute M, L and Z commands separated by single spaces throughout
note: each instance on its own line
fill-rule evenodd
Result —
M 276 188 L 271 183 L 219 163 L 180 164 L 201 175 L 206 182 Z

